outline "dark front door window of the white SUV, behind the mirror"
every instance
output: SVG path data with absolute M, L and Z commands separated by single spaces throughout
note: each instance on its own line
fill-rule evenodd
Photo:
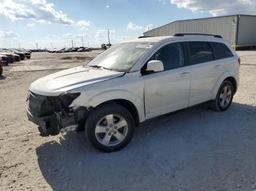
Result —
M 159 60 L 164 64 L 165 70 L 184 66 L 184 51 L 181 43 L 171 43 L 157 50 L 150 60 Z

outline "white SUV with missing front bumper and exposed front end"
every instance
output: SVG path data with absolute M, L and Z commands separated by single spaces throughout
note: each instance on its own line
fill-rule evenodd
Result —
M 176 34 L 133 39 L 86 66 L 59 71 L 30 86 L 27 114 L 43 135 L 85 130 L 103 152 L 125 147 L 135 126 L 206 101 L 229 108 L 240 58 L 221 36 Z

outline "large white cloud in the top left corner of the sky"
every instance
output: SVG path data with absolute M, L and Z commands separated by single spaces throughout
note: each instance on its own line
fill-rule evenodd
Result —
M 0 0 L 0 4 L 0 15 L 12 21 L 32 19 L 39 23 L 75 23 L 64 12 L 54 9 L 54 4 L 49 4 L 46 0 Z

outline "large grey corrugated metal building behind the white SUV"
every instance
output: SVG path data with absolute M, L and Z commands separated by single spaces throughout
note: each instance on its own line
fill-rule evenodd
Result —
M 173 34 L 217 34 L 236 49 L 256 46 L 256 15 L 229 15 L 192 20 L 177 20 L 146 31 L 143 36 Z

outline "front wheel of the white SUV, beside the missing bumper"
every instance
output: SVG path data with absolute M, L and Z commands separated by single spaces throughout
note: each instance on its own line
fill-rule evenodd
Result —
M 94 148 L 102 152 L 115 152 L 129 144 L 134 129 L 132 114 L 123 106 L 113 103 L 102 104 L 89 114 L 85 133 Z

